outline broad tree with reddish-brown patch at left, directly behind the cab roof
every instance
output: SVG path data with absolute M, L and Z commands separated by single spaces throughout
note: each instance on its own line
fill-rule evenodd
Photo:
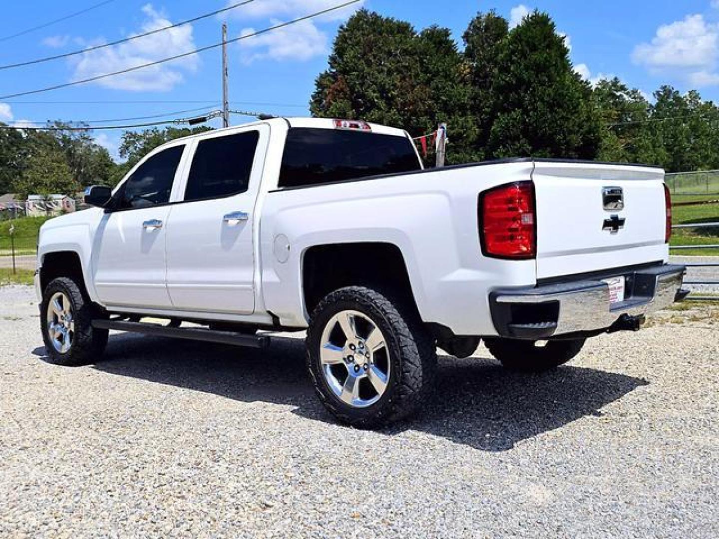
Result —
M 469 73 L 449 29 L 416 32 L 408 22 L 361 9 L 340 27 L 329 69 L 316 79 L 310 110 L 362 119 L 413 135 L 452 126 L 453 147 L 472 129 Z

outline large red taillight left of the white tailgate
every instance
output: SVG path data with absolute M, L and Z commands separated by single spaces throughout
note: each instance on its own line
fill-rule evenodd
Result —
M 480 195 L 480 236 L 487 257 L 531 259 L 536 256 L 534 186 L 510 183 Z

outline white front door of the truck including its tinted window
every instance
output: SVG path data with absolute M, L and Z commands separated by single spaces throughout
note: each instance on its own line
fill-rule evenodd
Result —
M 166 241 L 170 196 L 184 144 L 150 155 L 113 195 L 93 245 L 103 305 L 169 308 Z

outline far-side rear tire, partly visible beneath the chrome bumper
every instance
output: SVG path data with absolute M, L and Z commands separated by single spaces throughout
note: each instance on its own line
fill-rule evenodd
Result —
M 587 339 L 549 341 L 544 346 L 535 341 L 511 338 L 485 338 L 490 354 L 513 371 L 543 372 L 556 369 L 574 358 L 582 350 Z

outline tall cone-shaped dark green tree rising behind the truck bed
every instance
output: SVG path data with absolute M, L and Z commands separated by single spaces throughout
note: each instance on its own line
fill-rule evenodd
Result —
M 526 17 L 500 48 L 488 155 L 595 158 L 600 118 L 592 89 L 574 73 L 549 15 Z

